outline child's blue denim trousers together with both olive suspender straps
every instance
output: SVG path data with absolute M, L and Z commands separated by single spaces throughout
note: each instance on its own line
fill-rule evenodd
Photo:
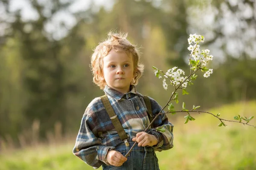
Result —
M 130 150 L 130 147 L 133 146 L 134 142 L 128 142 L 128 136 L 126 135 L 119 121 L 113 122 L 113 119 L 116 119 L 117 117 L 108 100 L 108 97 L 104 95 L 101 96 L 101 99 L 114 127 L 117 130 L 119 137 L 122 141 L 124 141 L 124 143 L 116 146 L 115 150 L 119 151 L 120 153 L 122 153 L 123 156 L 125 156 L 125 154 Z M 144 96 L 143 99 L 147 106 L 147 113 L 151 122 L 153 116 L 150 101 L 147 96 Z M 125 161 L 122 166 L 115 167 L 113 165 L 102 164 L 102 168 L 103 170 L 159 170 L 159 165 L 157 156 L 152 147 L 138 147 L 138 144 L 136 144 L 135 147 L 132 149 L 131 153 L 129 153 L 129 155 L 127 156 L 127 161 Z

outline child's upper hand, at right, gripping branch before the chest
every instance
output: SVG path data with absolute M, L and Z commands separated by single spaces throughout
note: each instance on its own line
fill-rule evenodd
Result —
M 136 134 L 136 137 L 132 141 L 137 141 L 138 146 L 154 146 L 158 143 L 156 136 L 148 134 L 146 132 L 139 132 Z

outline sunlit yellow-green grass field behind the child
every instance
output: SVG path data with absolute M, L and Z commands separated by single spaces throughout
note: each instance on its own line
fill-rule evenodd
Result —
M 255 116 L 250 124 L 256 125 L 256 101 L 225 105 L 210 112 L 230 120 L 236 114 Z M 256 170 L 255 128 L 232 122 L 218 127 L 218 119 L 208 114 L 195 113 L 193 117 L 196 120 L 185 125 L 183 117 L 174 123 L 175 147 L 157 152 L 160 170 Z M 93 170 L 73 156 L 73 145 L 5 151 L 0 153 L 0 170 Z

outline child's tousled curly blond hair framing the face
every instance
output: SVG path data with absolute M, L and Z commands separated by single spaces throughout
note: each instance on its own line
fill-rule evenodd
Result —
M 140 51 L 136 45 L 131 44 L 126 38 L 127 33 L 108 33 L 108 39 L 100 42 L 96 46 L 91 56 L 91 71 L 93 73 L 93 82 L 101 89 L 105 88 L 107 84 L 103 74 L 103 57 L 108 55 L 112 49 L 116 52 L 125 52 L 133 57 L 134 62 L 134 78 L 131 84 L 137 85 L 138 79 L 142 76 L 144 65 L 140 63 Z

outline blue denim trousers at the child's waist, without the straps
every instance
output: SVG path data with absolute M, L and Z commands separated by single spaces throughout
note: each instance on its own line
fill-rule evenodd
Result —
M 134 142 L 129 142 L 130 146 L 120 144 L 116 150 L 123 156 L 130 150 Z M 136 144 L 122 166 L 102 164 L 103 170 L 159 170 L 158 159 L 152 147 L 138 147 Z

